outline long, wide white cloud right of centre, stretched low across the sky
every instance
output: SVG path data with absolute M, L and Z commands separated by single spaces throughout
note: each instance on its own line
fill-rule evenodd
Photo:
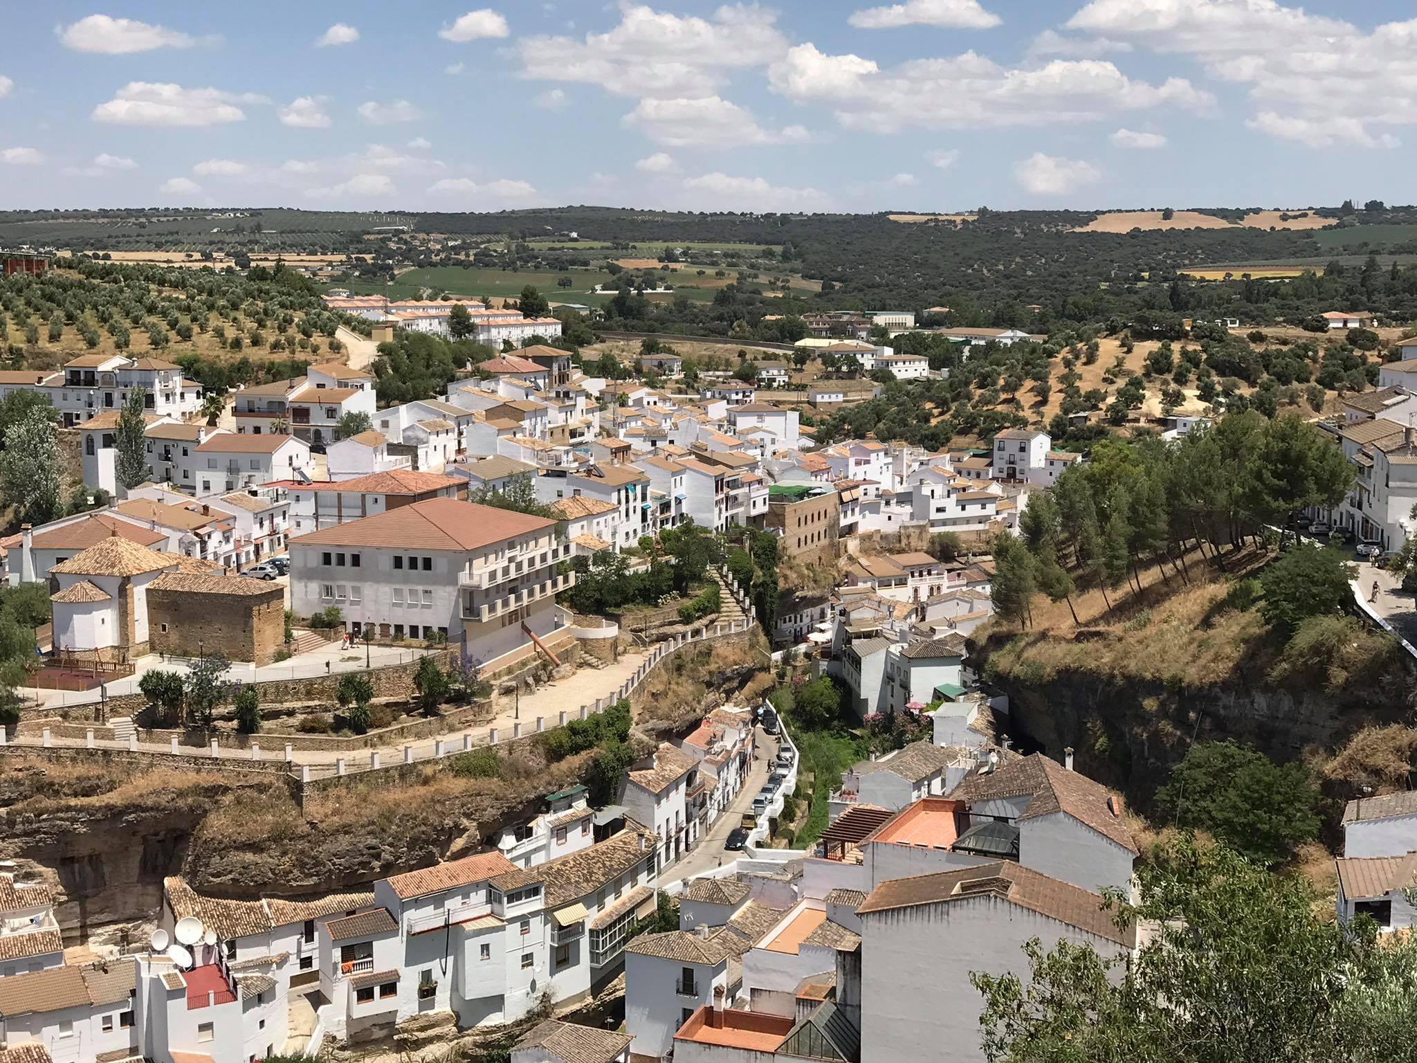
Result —
M 799 44 L 772 64 L 768 79 L 789 99 L 830 106 L 847 128 L 884 133 L 908 126 L 1053 126 L 1162 105 L 1203 109 L 1214 103 L 1185 78 L 1152 85 L 1102 60 L 1009 68 L 972 51 L 881 69 L 860 55 L 826 55 L 813 44 Z

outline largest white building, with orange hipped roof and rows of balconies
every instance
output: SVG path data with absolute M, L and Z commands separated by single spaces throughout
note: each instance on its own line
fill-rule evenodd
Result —
M 354 635 L 436 632 L 487 665 L 560 628 L 568 556 L 554 520 L 435 497 L 290 540 L 290 601 L 339 607 Z

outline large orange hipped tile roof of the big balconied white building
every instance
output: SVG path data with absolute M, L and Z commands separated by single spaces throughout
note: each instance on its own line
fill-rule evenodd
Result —
M 469 551 L 554 526 L 555 522 L 546 517 L 438 497 L 313 532 L 290 543 Z

